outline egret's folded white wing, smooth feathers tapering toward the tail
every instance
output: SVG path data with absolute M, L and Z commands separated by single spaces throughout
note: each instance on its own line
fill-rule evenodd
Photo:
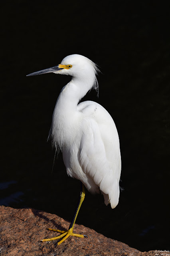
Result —
M 119 137 L 113 119 L 99 104 L 93 118 L 85 119 L 85 133 L 80 142 L 80 165 L 83 172 L 99 186 L 105 204 L 115 208 L 119 202 L 121 155 Z M 83 112 L 88 112 L 92 105 Z M 94 109 L 94 104 L 93 104 Z M 89 116 L 89 115 L 88 115 Z

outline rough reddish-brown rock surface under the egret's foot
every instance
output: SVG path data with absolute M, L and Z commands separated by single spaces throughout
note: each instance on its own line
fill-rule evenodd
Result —
M 58 240 L 40 242 L 58 235 L 47 228 L 67 230 L 68 227 L 69 222 L 55 214 L 0 206 L 0 256 L 155 256 L 154 251 L 140 252 L 77 224 L 74 232 L 87 234 L 88 238 L 70 236 L 59 246 Z

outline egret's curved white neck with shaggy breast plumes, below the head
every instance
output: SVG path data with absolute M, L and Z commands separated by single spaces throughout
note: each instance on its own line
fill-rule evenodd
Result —
M 62 148 L 77 136 L 83 118 L 82 113 L 77 110 L 77 104 L 92 87 L 93 79 L 76 77 L 63 87 L 53 112 L 51 133 L 55 146 L 58 144 Z

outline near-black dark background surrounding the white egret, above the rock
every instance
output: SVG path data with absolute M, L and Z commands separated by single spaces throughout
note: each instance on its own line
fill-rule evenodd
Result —
M 118 129 L 118 206 L 86 193 L 77 224 L 138 250 L 168 250 L 170 6 L 142 1 L 6 1 L 1 6 L 2 163 L 0 203 L 69 221 L 79 181 L 55 159 L 48 131 L 70 77 L 27 74 L 82 54 L 99 65 L 99 99 Z M 49 223 L 50 227 L 50 223 Z M 87 234 L 88 235 L 88 234 Z

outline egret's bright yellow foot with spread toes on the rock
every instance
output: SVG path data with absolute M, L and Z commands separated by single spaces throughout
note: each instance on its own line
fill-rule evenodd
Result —
M 83 238 L 83 237 L 87 238 L 86 235 L 74 234 L 74 233 L 73 233 L 73 228 L 70 228 L 70 229 L 67 230 L 67 231 L 61 231 L 61 230 L 52 229 L 52 228 L 48 228 L 48 230 L 61 233 L 61 235 L 55 236 L 55 237 L 53 237 L 53 238 L 42 239 L 42 240 L 40 240 L 40 241 L 42 241 L 42 242 L 45 242 L 45 241 L 52 241 L 52 240 L 56 240 L 56 239 L 59 239 L 59 238 L 62 238 L 63 236 L 65 236 L 61 241 L 59 241 L 59 242 L 57 243 L 57 245 L 59 245 L 59 244 L 61 244 L 62 242 L 64 242 L 69 236 L 77 236 L 77 237 L 81 237 L 81 238 Z

